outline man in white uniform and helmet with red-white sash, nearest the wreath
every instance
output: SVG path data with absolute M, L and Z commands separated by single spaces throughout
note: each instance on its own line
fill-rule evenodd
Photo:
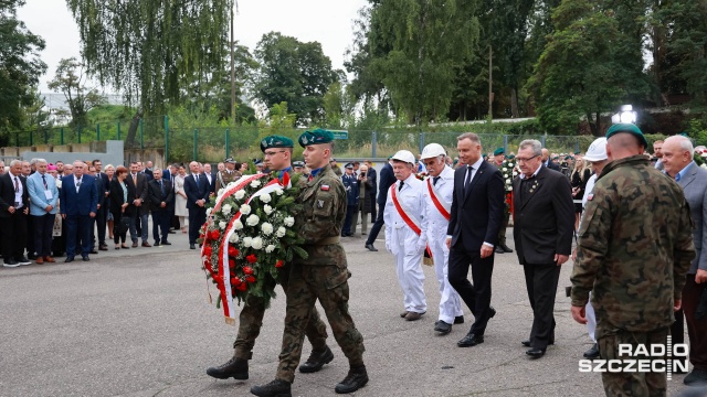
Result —
M 408 150 L 391 158 L 393 175 L 398 180 L 388 190 L 386 202 L 386 249 L 395 257 L 398 281 L 402 289 L 407 321 L 420 320 L 428 311 L 424 296 L 422 254 L 428 245 L 428 224 L 424 222 L 423 185 L 415 174 L 416 160 Z

